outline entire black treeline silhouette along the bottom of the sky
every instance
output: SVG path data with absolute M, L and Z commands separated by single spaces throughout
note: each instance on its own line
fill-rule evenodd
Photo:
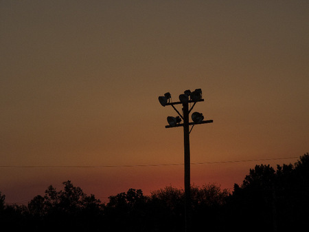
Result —
M 71 181 L 29 204 L 5 204 L 1 231 L 184 231 L 184 191 L 165 187 L 110 196 L 102 204 Z M 232 193 L 216 184 L 192 186 L 192 231 L 303 231 L 309 226 L 309 154 L 294 165 L 256 165 Z

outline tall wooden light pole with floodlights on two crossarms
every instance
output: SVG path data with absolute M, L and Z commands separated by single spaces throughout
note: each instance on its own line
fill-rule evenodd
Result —
M 212 123 L 213 120 L 204 120 L 204 116 L 201 113 L 194 112 L 192 114 L 192 123 L 189 122 L 189 114 L 192 111 L 194 105 L 200 101 L 204 101 L 202 98 L 202 90 L 195 89 L 194 92 L 185 90 L 184 94 L 179 95 L 179 102 L 171 102 L 170 93 L 159 96 L 159 102 L 162 106 L 171 105 L 179 116 L 168 116 L 168 124 L 165 128 L 171 127 L 183 127 L 183 145 L 185 154 L 185 232 L 191 231 L 191 184 L 190 184 L 190 132 L 194 125 Z M 189 109 L 189 103 L 193 103 Z M 183 115 L 174 107 L 174 105 L 183 105 Z M 181 119 L 183 123 L 181 123 Z M 192 125 L 191 129 L 189 126 Z

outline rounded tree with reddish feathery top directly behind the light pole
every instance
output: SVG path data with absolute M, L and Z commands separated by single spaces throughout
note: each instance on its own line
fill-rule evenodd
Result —
M 229 195 L 227 189 L 221 189 L 217 184 L 205 184 L 202 187 L 191 187 L 192 198 L 192 229 L 205 227 L 215 231 L 222 224 L 221 209 Z M 184 191 L 168 186 L 153 191 L 149 204 L 151 218 L 157 220 L 152 225 L 158 231 L 183 231 L 184 228 Z M 220 222 L 220 223 L 219 223 Z M 159 227 L 161 225 L 161 227 Z

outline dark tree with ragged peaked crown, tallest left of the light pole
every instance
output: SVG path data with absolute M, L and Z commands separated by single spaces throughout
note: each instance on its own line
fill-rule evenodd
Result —
M 41 227 L 49 224 L 49 231 L 62 229 L 78 230 L 96 228 L 94 222 L 102 217 L 102 204 L 93 195 L 87 196 L 70 180 L 63 182 L 64 190 L 57 191 L 50 185 L 45 196 L 36 196 L 28 204 L 30 214 Z M 91 223 L 92 222 L 92 223 Z

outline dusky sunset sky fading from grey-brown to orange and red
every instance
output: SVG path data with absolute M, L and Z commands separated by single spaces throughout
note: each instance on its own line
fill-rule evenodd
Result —
M 308 1 L 0 1 L 0 191 L 27 202 L 71 180 L 106 197 L 183 187 L 183 130 L 165 129 L 185 89 L 214 123 L 192 162 L 309 151 Z M 179 108 L 181 110 L 181 108 Z M 192 165 L 232 188 L 260 163 Z M 39 166 L 47 166 L 42 168 Z M 56 167 L 55 167 L 56 166 Z

